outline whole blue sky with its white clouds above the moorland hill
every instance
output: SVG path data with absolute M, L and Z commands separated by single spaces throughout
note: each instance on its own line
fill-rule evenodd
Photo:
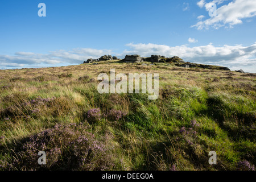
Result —
M 136 53 L 256 72 L 255 0 L 9 0 L 0 24 L 0 69 Z

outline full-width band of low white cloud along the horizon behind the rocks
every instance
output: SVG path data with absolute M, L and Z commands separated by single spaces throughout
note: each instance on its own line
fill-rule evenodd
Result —
M 256 42 L 251 46 L 206 46 L 188 47 L 165 46 L 159 44 L 126 44 L 127 49 L 121 53 L 115 53 L 108 49 L 74 48 L 71 51 L 51 51 L 48 54 L 32 52 L 16 52 L 15 55 L 0 55 L 0 68 L 39 68 L 54 67 L 60 65 L 81 64 L 89 58 L 97 59 L 102 55 L 115 55 L 120 58 L 125 55 L 138 54 L 142 57 L 162 55 L 166 57 L 179 56 L 191 63 L 213 64 L 229 67 L 232 70 L 244 69 L 246 72 L 256 72 Z

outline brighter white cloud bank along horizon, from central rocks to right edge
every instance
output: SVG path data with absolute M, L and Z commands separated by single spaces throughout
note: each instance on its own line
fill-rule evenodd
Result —
M 126 46 L 130 50 L 125 50 L 124 54 L 139 54 L 144 57 L 158 54 L 167 57 L 179 56 L 185 61 L 201 64 L 212 64 L 228 67 L 232 70 L 244 69 L 247 72 L 256 73 L 256 42 L 251 46 L 228 46 L 215 47 L 211 43 L 207 46 L 188 47 L 164 46 L 158 44 L 133 44 Z M 254 66 L 254 67 L 252 67 Z

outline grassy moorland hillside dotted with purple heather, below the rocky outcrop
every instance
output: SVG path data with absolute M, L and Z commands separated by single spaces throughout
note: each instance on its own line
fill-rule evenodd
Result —
M 159 98 L 97 76 L 159 73 Z M 104 61 L 0 71 L 0 169 L 236 170 L 256 164 L 255 74 Z M 46 151 L 47 164 L 38 164 Z M 217 165 L 208 163 L 217 152 Z

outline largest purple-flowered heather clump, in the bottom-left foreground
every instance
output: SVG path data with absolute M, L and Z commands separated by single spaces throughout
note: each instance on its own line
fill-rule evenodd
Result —
M 4 170 L 111 170 L 115 168 L 108 147 L 85 125 L 56 125 L 20 142 L 11 157 L 0 161 Z M 46 152 L 46 165 L 38 152 Z M 118 164 L 120 166 L 120 164 Z

